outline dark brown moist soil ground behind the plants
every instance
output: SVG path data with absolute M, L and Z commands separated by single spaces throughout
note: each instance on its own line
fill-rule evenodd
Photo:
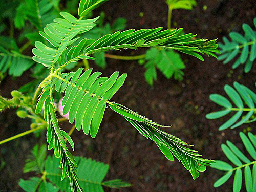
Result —
M 222 37 L 228 36 L 230 31 L 243 34 L 241 29 L 243 23 L 253 26 L 253 18 L 256 16 L 255 5 L 256 2 L 253 0 L 200 0 L 192 11 L 174 10 L 173 27 L 183 27 L 186 32 L 198 34 L 199 38 L 218 38 L 221 42 Z M 164 0 L 110 0 L 98 8 L 94 15 L 98 15 L 100 11 L 104 11 L 112 22 L 118 17 L 126 18 L 129 28 L 167 27 L 168 8 Z M 140 13 L 143 13 L 143 17 L 140 17 Z M 142 49 L 113 52 L 113 54 L 138 55 L 144 52 L 145 50 Z M 165 131 L 194 144 L 204 158 L 227 161 L 220 147 L 226 140 L 230 140 L 245 152 L 238 133 L 250 129 L 256 134 L 255 123 L 220 132 L 218 127 L 228 118 L 207 120 L 205 115 L 220 110 L 218 105 L 209 100 L 209 95 L 212 93 L 225 95 L 223 90 L 225 84 L 232 86 L 234 81 L 238 81 L 256 91 L 255 66 L 245 74 L 244 66 L 231 70 L 232 62 L 223 65 L 215 58 L 206 56 L 204 62 L 185 54 L 181 54 L 181 57 L 186 63 L 184 80 L 182 82 L 167 80 L 158 73 L 153 88 L 145 82 L 145 69 L 138 65 L 137 61 L 108 59 L 108 67 L 105 70 L 98 68 L 93 62 L 90 63 L 90 67 L 95 71 L 102 71 L 103 76 L 109 76 L 114 71 L 128 73 L 126 83 L 113 100 L 155 122 L 172 124 L 173 126 Z M 17 89 L 29 80 L 29 73 L 17 79 L 8 77 L 1 83 L 1 94 L 10 97 L 11 90 Z M 27 119 L 17 118 L 15 110 L 12 109 L 1 113 L 0 122 L 1 140 L 29 128 Z M 62 125 L 65 130 L 69 130 L 71 126 L 68 123 Z M 232 177 L 227 184 L 217 189 L 213 187 L 213 183 L 223 174 L 215 169 L 207 168 L 194 181 L 181 163 L 177 160 L 168 161 L 155 143 L 145 139 L 110 109 L 106 110 L 95 139 L 77 131 L 73 133 L 72 138 L 76 148 L 74 155 L 93 158 L 110 165 L 106 180 L 120 178 L 133 185 L 120 190 L 106 188 L 105 191 L 232 191 Z M 29 151 L 38 140 L 46 143 L 45 137 L 37 138 L 32 134 L 1 145 L 0 189 L 2 191 L 22 191 L 17 183 L 20 178 L 28 179 L 31 176 L 24 174 L 22 168 Z M 244 186 L 243 191 L 245 191 Z

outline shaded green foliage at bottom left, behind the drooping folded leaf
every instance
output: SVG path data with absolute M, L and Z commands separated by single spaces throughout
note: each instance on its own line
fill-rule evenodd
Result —
M 41 154 L 42 152 L 42 154 Z M 48 156 L 46 158 L 46 146 L 36 145 L 32 150 L 32 156 L 34 160 L 26 160 L 25 167 L 33 167 L 32 169 L 25 169 L 26 172 L 40 170 L 42 174 L 41 178 L 32 177 L 29 180 L 21 179 L 19 186 L 26 192 L 30 191 L 71 191 L 69 178 L 66 176 L 63 178 L 61 170 L 58 168 L 59 160 L 55 157 Z M 77 162 L 77 177 L 80 186 L 84 192 L 103 192 L 103 187 L 121 188 L 131 186 L 120 179 L 103 181 L 109 170 L 109 165 L 97 162 L 92 159 L 83 157 L 74 157 Z M 44 162 L 42 164 L 41 162 Z M 33 166 L 30 166 L 33 164 Z M 61 181 L 62 180 L 62 181 Z

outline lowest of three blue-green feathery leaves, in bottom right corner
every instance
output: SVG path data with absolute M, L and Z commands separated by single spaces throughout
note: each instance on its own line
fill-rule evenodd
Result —
M 223 185 L 234 173 L 233 180 L 233 191 L 239 192 L 242 189 L 242 180 L 245 181 L 245 189 L 247 192 L 256 191 L 256 138 L 252 133 L 248 133 L 248 137 L 240 132 L 241 140 L 243 141 L 244 147 L 247 153 L 253 158 L 253 161 L 249 160 L 233 143 L 227 141 L 227 145 L 222 144 L 221 148 L 226 157 L 235 166 L 231 166 L 229 163 L 224 161 L 216 160 L 211 165 L 212 168 L 216 168 L 225 171 L 223 177 L 218 179 L 214 183 L 214 187 Z M 251 167 L 252 166 L 252 171 Z M 244 168 L 244 177 L 242 176 L 242 169 Z M 243 191 L 245 191 L 243 189 Z

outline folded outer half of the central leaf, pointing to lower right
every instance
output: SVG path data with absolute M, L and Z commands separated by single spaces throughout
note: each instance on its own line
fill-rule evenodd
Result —
M 193 179 L 198 178 L 199 172 L 204 172 L 206 166 L 212 164 L 212 160 L 203 159 L 200 157 L 201 155 L 197 154 L 197 151 L 187 148 L 191 145 L 159 129 L 159 127 L 166 126 L 152 122 L 121 104 L 111 102 L 109 106 L 130 122 L 144 137 L 154 141 L 167 159 L 173 161 L 174 155 L 181 161 Z

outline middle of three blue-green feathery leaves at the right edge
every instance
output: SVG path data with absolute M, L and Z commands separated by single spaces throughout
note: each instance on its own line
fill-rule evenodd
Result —
M 207 114 L 207 119 L 217 119 L 231 112 L 236 112 L 228 121 L 226 121 L 219 127 L 219 130 L 225 130 L 229 127 L 231 127 L 231 129 L 234 129 L 244 123 L 249 123 L 256 120 L 256 118 L 254 117 L 254 112 L 256 111 L 256 94 L 249 88 L 239 84 L 238 82 L 234 82 L 233 85 L 236 90 L 228 85 L 224 87 L 224 90 L 236 106 L 233 106 L 228 99 L 219 94 L 210 95 L 210 100 L 222 106 L 224 109 L 221 111 Z M 247 105 L 248 108 L 246 108 L 244 104 Z M 242 116 L 243 112 L 246 113 L 246 115 L 243 116 L 239 122 L 237 122 L 237 120 L 239 120 L 239 118 Z

